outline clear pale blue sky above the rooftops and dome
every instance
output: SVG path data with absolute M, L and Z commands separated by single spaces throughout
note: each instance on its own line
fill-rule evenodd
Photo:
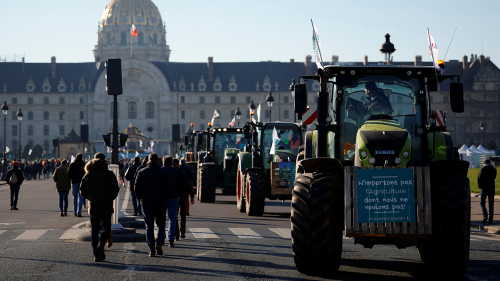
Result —
M 0 57 L 27 62 L 94 61 L 98 22 L 110 0 L 3 0 Z M 395 61 L 430 61 L 426 28 L 446 60 L 471 53 L 500 63 L 499 0 L 153 0 L 167 28 L 170 61 L 303 61 L 312 54 L 311 23 L 322 40 L 323 60 L 381 61 L 389 33 Z M 481 39 L 483 38 L 483 39 Z M 481 43 L 483 42 L 483 44 Z M 484 46 L 484 51 L 482 51 Z M 19 60 L 19 59 L 18 59 Z

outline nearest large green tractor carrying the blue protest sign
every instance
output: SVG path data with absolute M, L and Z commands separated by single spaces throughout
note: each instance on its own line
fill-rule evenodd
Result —
M 326 66 L 293 80 L 299 116 L 307 108 L 303 81 L 320 82 L 317 124 L 297 157 L 291 206 L 298 271 L 337 271 L 345 233 L 366 248 L 416 246 L 429 265 L 465 275 L 469 165 L 458 159 L 453 128 L 436 126 L 429 94 L 445 79 L 458 79 L 450 102 L 463 112 L 460 78 L 433 67 Z

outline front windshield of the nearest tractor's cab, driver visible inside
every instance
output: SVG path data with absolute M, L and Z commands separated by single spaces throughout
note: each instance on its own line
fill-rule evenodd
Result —
M 352 85 L 341 85 L 344 99 L 340 105 L 340 139 L 343 160 L 353 160 L 358 130 L 372 120 L 395 120 L 412 138 L 412 148 L 420 150 L 421 139 L 416 137 L 422 126 L 425 99 L 420 79 L 398 76 L 366 75 L 354 78 Z M 412 152 L 414 164 L 420 163 L 419 151 Z M 416 158 L 418 159 L 416 159 Z

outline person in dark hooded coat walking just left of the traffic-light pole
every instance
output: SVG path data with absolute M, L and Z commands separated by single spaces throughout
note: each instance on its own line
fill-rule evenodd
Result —
M 116 175 L 108 170 L 106 157 L 102 153 L 96 153 L 85 165 L 85 175 L 82 178 L 80 192 L 82 196 L 90 201 L 90 225 L 91 244 L 94 252 L 94 261 L 103 261 L 104 243 L 108 240 L 111 232 L 111 215 L 113 214 L 113 200 L 120 192 L 120 186 Z M 118 212 L 118 210 L 116 210 Z M 103 232 L 99 237 L 99 231 Z M 109 247 L 109 245 L 108 245 Z

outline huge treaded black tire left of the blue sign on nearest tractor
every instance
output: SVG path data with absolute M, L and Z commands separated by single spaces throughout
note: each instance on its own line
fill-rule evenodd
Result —
M 343 187 L 332 174 L 295 178 L 292 194 L 292 246 L 295 267 L 303 274 L 337 271 L 342 257 Z

